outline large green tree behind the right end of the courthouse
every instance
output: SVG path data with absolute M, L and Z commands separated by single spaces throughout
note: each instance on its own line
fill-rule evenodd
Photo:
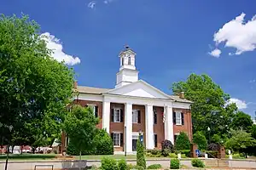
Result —
M 211 135 L 227 134 L 237 107 L 226 105 L 230 95 L 225 94 L 211 77 L 191 74 L 185 82 L 174 82 L 172 91 L 174 94 L 184 92 L 185 98 L 194 102 L 191 106 L 194 133 L 201 131 L 207 135 L 207 127 L 211 127 Z

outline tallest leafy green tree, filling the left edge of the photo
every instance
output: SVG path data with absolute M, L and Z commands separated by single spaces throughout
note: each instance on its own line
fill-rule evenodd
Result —
M 38 133 L 45 138 L 60 133 L 73 94 L 73 70 L 51 54 L 34 20 L 0 16 L 0 122 L 13 127 L 3 136 L 13 133 L 15 141 L 32 144 Z

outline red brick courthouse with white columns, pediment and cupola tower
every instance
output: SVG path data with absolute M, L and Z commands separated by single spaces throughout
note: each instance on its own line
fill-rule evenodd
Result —
M 180 132 L 192 139 L 191 101 L 168 95 L 139 80 L 135 66 L 136 54 L 125 47 L 119 54 L 120 67 L 113 89 L 78 86 L 75 103 L 91 106 L 100 118 L 99 128 L 111 134 L 115 154 L 132 154 L 137 149 L 139 133 L 147 149 L 160 148 L 168 139 L 174 143 Z

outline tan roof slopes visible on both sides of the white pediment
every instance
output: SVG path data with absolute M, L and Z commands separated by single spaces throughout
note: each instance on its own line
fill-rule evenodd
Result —
M 78 86 L 77 90 L 80 94 L 104 94 L 113 90 L 114 88 L 95 88 L 95 87 L 87 87 L 87 86 Z M 180 99 L 177 95 L 168 95 L 170 99 L 173 99 L 177 102 L 183 102 L 183 103 L 193 103 L 189 99 Z

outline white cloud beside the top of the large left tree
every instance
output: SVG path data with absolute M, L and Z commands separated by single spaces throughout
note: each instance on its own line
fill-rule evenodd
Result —
M 63 46 L 59 39 L 51 35 L 49 32 L 44 32 L 41 37 L 46 42 L 46 47 L 53 51 L 52 57 L 57 61 L 64 61 L 67 65 L 76 65 L 80 63 L 78 57 L 73 57 L 72 55 L 65 54 L 63 52 Z

